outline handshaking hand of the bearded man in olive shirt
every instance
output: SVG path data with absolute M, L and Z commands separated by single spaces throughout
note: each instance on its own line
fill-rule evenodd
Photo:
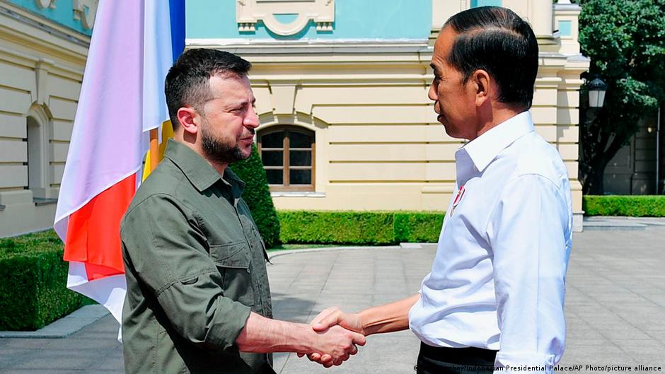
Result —
M 314 348 L 317 353 L 310 353 L 308 357 L 326 368 L 347 361 L 349 356 L 358 352 L 356 345 L 364 346 L 366 341 L 364 335 L 337 325 L 316 331 L 316 334 L 318 339 Z M 303 353 L 298 353 L 298 356 L 302 357 Z M 315 357 L 316 360 L 313 359 Z

